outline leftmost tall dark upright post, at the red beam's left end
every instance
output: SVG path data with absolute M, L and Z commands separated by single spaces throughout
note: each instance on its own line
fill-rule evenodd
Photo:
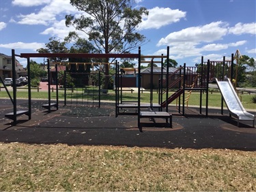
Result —
M 17 121 L 17 99 L 16 99 L 16 59 L 15 59 L 15 50 L 12 49 L 12 90 L 13 90 L 13 101 L 14 101 L 14 124 Z

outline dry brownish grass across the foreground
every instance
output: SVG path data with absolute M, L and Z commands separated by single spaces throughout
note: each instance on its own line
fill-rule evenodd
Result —
M 256 153 L 0 143 L 0 191 L 255 191 Z

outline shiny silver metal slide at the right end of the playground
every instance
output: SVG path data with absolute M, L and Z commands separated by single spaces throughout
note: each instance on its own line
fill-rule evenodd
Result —
M 244 107 L 242 106 L 242 103 L 240 102 L 238 95 L 236 95 L 236 91 L 235 89 L 233 89 L 233 85 L 231 84 L 230 80 L 228 78 L 224 81 L 218 81 L 216 79 L 216 82 L 218 84 L 218 89 L 220 89 L 221 95 L 225 100 L 229 113 L 232 116 L 238 118 L 238 127 L 239 121 L 253 121 L 254 127 L 255 116 L 244 110 Z

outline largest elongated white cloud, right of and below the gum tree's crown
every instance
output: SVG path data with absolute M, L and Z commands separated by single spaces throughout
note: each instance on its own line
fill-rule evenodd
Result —
M 157 46 L 170 45 L 177 42 L 214 42 L 227 34 L 227 24 L 225 22 L 211 22 L 208 25 L 199 27 L 188 27 L 181 31 L 176 31 L 160 39 Z

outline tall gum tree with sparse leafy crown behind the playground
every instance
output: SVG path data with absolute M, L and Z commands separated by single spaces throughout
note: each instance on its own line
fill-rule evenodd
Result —
M 72 6 L 84 12 L 79 17 L 66 15 L 66 26 L 73 25 L 83 31 L 98 53 L 127 53 L 145 42 L 145 36 L 137 27 L 145 7 L 132 8 L 133 0 L 70 0 Z M 72 32 L 74 33 L 74 32 Z M 102 61 L 108 63 L 109 59 Z M 104 66 L 104 74 L 109 76 L 109 65 Z M 109 79 L 104 81 L 104 88 Z

